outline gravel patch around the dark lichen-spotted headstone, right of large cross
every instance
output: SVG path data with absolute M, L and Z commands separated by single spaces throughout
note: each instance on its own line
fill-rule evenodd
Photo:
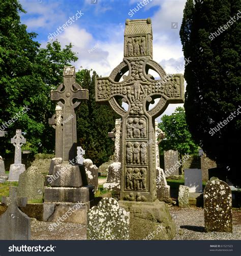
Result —
M 241 212 L 233 211 L 233 233 L 204 232 L 204 211 L 202 208 L 170 208 L 176 222 L 177 234 L 174 240 L 241 240 Z

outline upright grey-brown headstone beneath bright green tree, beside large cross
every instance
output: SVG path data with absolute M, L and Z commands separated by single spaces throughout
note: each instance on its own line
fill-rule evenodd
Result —
M 179 175 L 177 150 L 164 151 L 164 166 L 166 177 Z

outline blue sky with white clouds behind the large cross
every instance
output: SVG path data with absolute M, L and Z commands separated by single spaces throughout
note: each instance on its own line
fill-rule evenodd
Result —
M 123 59 L 126 19 L 150 17 L 154 36 L 154 60 L 167 73 L 184 72 L 179 29 L 186 0 L 20 0 L 19 2 L 27 12 L 21 14 L 21 22 L 27 25 L 28 32 L 38 34 L 37 41 L 42 47 L 50 42 L 50 35 L 53 40 L 57 39 L 61 42 L 62 46 L 70 42 L 74 45 L 73 50 L 77 52 L 79 58 L 73 63 L 76 70 L 80 67 L 92 68 L 99 75 L 108 76 Z M 92 2 L 97 3 L 92 4 Z M 132 14 L 134 13 L 132 17 L 131 10 L 135 10 L 132 11 Z M 71 22 L 70 17 L 74 22 Z M 177 22 L 176 29 L 173 28 L 172 22 Z M 68 26 L 63 26 L 64 24 Z M 164 113 L 170 115 L 178 105 L 182 104 L 169 105 Z

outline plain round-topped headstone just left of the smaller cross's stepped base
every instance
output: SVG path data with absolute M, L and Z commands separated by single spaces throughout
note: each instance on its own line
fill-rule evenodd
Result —
M 27 197 L 27 200 L 42 200 L 44 181 L 44 176 L 37 167 L 28 167 L 19 176 L 17 195 L 19 197 Z

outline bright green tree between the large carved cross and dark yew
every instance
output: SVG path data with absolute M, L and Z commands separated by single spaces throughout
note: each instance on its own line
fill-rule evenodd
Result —
M 171 116 L 164 115 L 158 127 L 166 135 L 166 139 L 159 144 L 163 150 L 178 150 L 180 156 L 185 153 L 197 153 L 198 146 L 194 143 L 188 130 L 183 107 L 177 107 Z

